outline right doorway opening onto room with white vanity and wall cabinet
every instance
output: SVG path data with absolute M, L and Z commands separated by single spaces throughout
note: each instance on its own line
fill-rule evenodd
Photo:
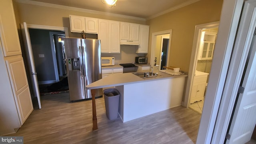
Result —
M 200 38 L 200 44 L 195 65 L 196 72 L 190 93 L 189 108 L 200 114 L 202 114 L 204 106 L 204 97 L 209 81 L 217 34 L 218 27 L 204 28 L 200 31 L 200 37 L 198 37 Z

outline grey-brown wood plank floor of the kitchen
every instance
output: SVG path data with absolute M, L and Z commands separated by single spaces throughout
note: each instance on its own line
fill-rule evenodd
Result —
M 24 144 L 194 144 L 201 115 L 178 106 L 123 123 L 108 120 L 104 98 L 96 99 L 98 130 L 92 132 L 92 101 L 70 103 L 69 93 L 41 96 L 16 134 Z

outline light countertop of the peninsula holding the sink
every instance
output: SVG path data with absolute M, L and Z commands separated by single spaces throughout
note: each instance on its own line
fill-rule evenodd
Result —
M 156 76 L 152 78 L 140 78 L 132 73 L 112 74 L 87 85 L 86 88 L 88 90 L 91 90 L 91 89 L 104 88 L 104 87 L 110 87 L 110 86 L 121 86 L 125 84 L 133 84 L 138 82 L 146 82 L 146 81 L 161 80 L 166 78 L 178 78 L 178 77 L 188 76 L 186 74 L 172 76 L 170 74 L 165 74 L 159 71 L 158 71 L 158 74 L 160 76 Z

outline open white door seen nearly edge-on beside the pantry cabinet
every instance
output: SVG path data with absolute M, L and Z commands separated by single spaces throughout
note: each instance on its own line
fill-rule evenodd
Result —
M 39 106 L 39 109 L 41 109 L 40 92 L 39 92 L 38 81 L 36 76 L 36 68 L 34 63 L 32 46 L 30 42 L 30 36 L 29 36 L 26 22 L 20 25 L 21 25 L 22 35 L 23 35 L 23 39 L 26 47 L 25 49 L 26 49 L 26 54 L 27 54 L 28 63 L 29 63 L 29 72 L 30 72 L 30 78 L 32 80 L 33 93 L 34 93 L 34 96 L 37 97 L 38 106 Z

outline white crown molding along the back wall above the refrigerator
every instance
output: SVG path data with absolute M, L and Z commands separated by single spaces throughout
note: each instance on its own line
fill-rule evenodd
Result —
M 109 12 L 100 12 L 96 10 L 87 10 L 83 8 L 74 8 L 70 6 L 62 6 L 62 5 L 57 5 L 57 4 L 49 4 L 49 3 L 44 3 L 44 2 L 36 2 L 36 1 L 31 1 L 31 0 L 15 0 L 18 3 L 23 3 L 23 4 L 33 4 L 33 5 L 38 5 L 38 6 L 47 6 L 51 8 L 60 8 L 60 9 L 65 9 L 65 10 L 74 10 L 74 11 L 79 11 L 79 12 L 87 12 L 91 14 L 101 14 L 101 15 L 107 15 L 107 16 L 114 16 L 114 17 L 120 17 L 120 18 L 128 18 L 128 19 L 133 19 L 133 20 L 141 20 L 141 21 L 146 21 L 145 18 L 138 18 L 134 16 L 126 16 L 126 15 L 121 15 L 121 14 L 112 14 Z

